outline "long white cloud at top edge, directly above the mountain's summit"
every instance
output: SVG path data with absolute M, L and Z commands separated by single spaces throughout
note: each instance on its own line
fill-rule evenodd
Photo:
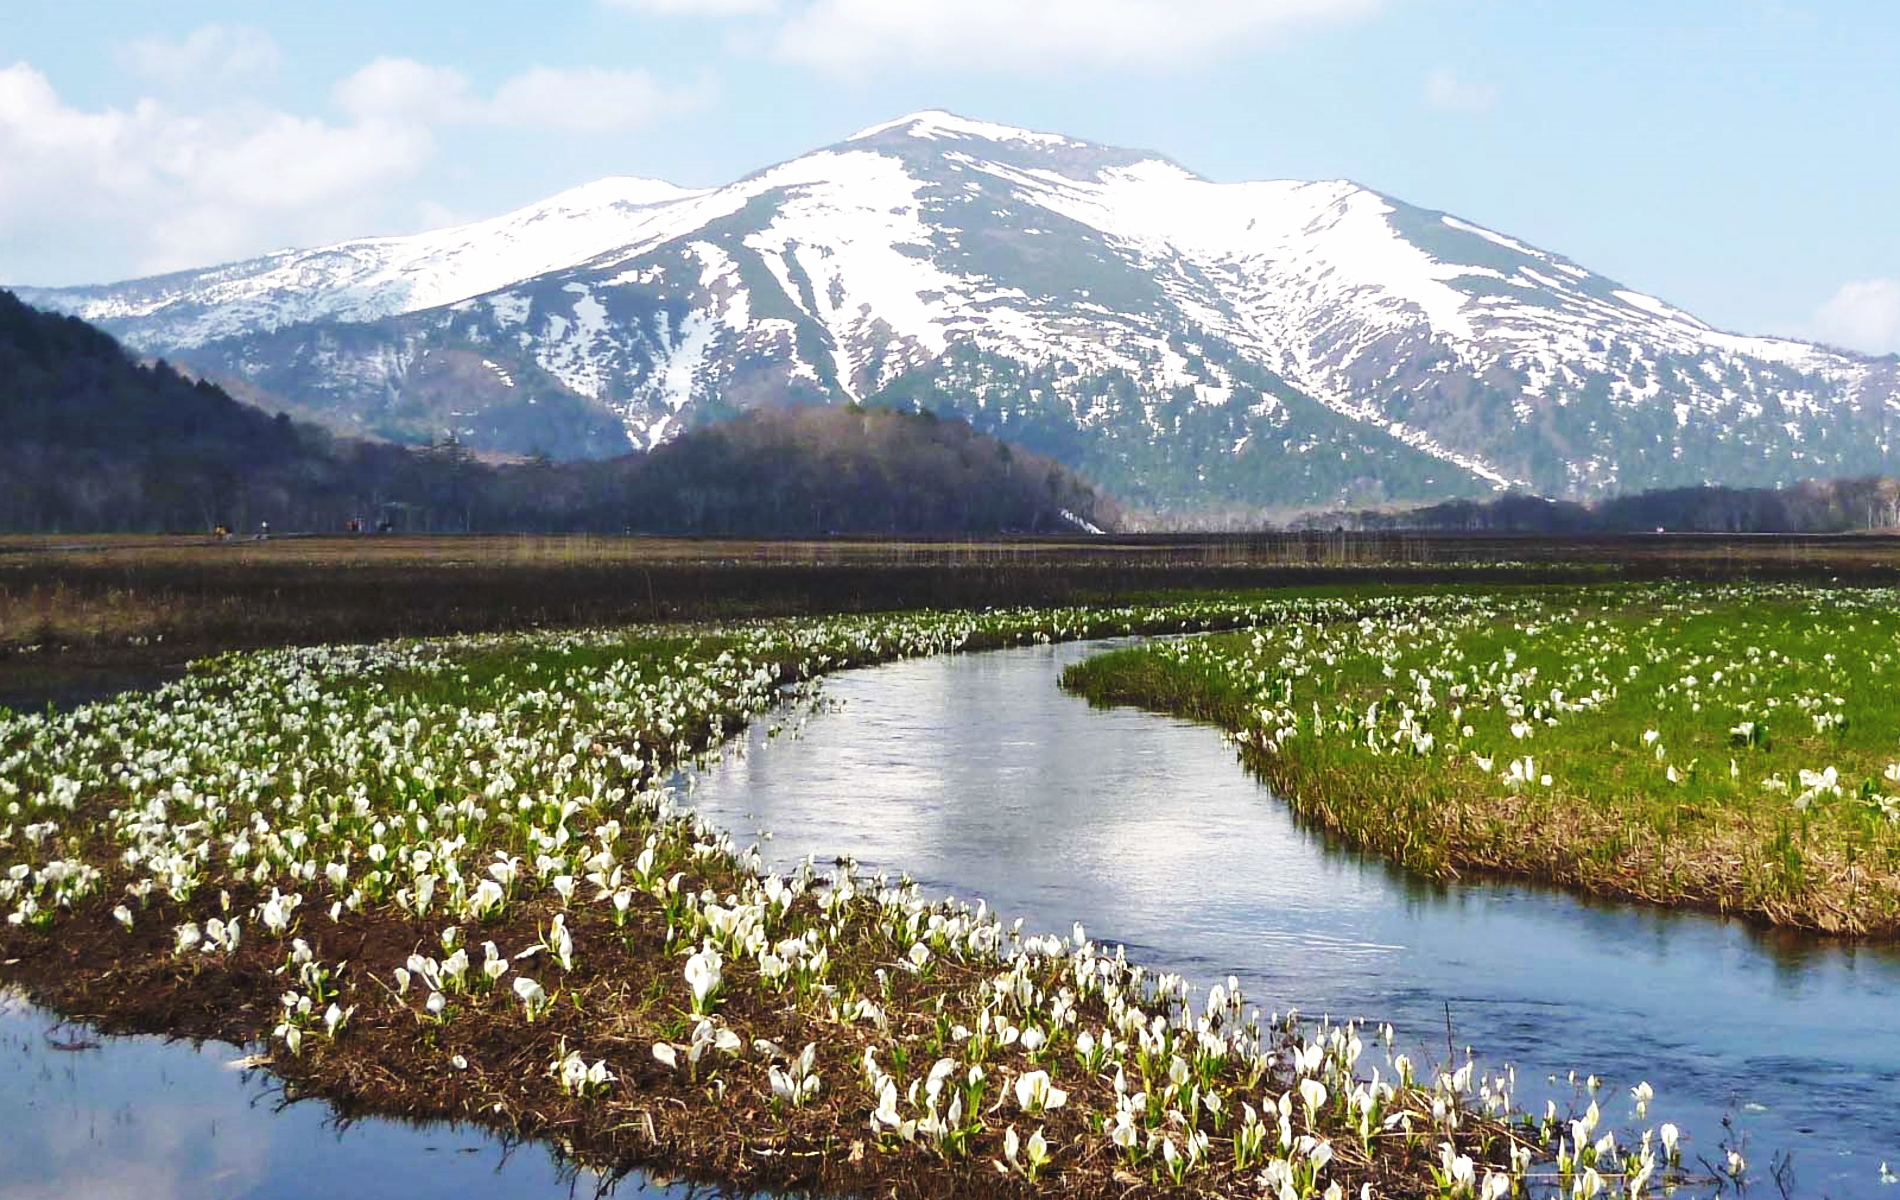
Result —
M 868 70 L 1170 70 L 1345 21 L 1381 0 L 811 0 L 777 30 L 779 57 Z

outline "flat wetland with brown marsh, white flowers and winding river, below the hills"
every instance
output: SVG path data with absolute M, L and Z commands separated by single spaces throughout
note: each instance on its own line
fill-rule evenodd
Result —
M 739 1192 L 1900 1162 L 1885 539 L 0 551 L 0 985 L 63 1031 Z

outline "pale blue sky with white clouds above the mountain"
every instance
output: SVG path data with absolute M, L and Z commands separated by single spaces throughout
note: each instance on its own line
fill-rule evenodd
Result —
M 0 27 L 0 281 L 728 182 L 918 108 L 1345 177 L 1900 349 L 1885 0 L 72 0 Z

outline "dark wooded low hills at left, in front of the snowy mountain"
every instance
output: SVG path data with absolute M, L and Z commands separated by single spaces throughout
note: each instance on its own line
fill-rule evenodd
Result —
M 336 437 L 0 291 L 0 530 L 977 534 L 1113 528 L 1051 459 L 960 420 L 758 410 L 652 454 L 483 461 Z

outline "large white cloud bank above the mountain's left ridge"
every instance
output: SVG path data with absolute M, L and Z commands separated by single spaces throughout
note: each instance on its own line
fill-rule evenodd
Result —
M 407 232 L 418 197 L 405 184 L 431 169 L 448 127 L 606 135 L 709 99 L 707 82 L 585 66 L 534 66 L 481 95 L 460 70 L 376 59 L 334 85 L 332 116 L 177 95 L 91 110 L 17 63 L 0 68 L 0 283 L 101 281 Z

